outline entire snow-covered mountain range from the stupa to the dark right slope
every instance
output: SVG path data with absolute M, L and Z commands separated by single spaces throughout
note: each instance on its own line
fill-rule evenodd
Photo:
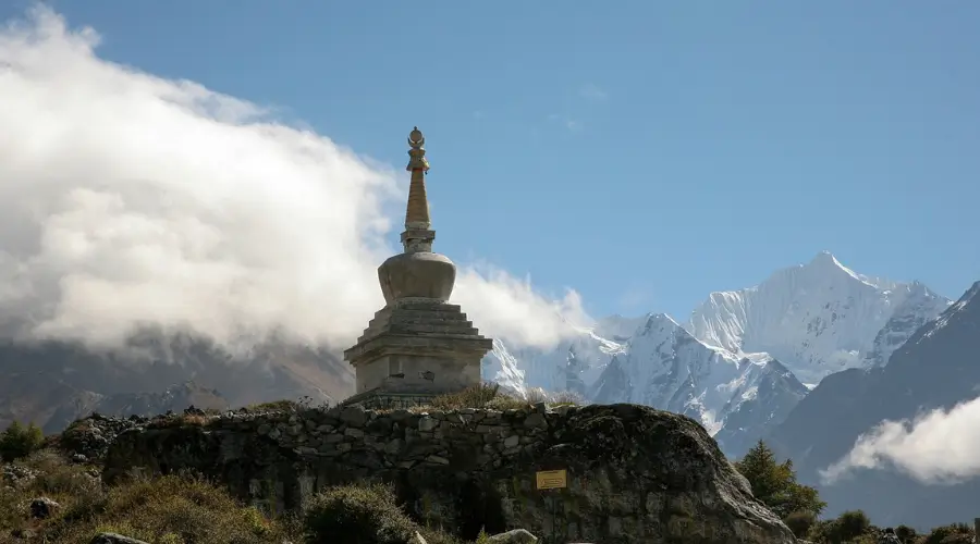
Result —
M 664 314 L 612 316 L 550 350 L 509 350 L 498 339 L 483 376 L 518 393 L 573 391 L 686 413 L 739 455 L 823 376 L 883 366 L 950 304 L 918 282 L 857 274 L 824 251 L 755 287 L 711 294 L 686 326 Z

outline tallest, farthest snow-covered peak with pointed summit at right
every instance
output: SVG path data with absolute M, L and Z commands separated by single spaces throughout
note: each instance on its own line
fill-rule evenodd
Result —
M 734 354 L 770 354 L 816 384 L 832 372 L 886 362 L 950 304 L 919 283 L 857 274 L 823 251 L 755 287 L 712 293 L 688 330 Z

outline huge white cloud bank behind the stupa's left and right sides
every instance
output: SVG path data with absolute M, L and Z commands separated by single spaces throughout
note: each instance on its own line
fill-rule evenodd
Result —
M 383 304 L 376 269 L 401 231 L 385 213 L 403 209 L 401 168 L 107 62 L 98 40 L 47 8 L 0 29 L 4 325 L 90 345 L 147 323 L 351 344 Z M 513 343 L 554 343 L 556 310 L 586 319 L 575 294 L 551 301 L 504 272 L 458 275 L 454 299 Z

